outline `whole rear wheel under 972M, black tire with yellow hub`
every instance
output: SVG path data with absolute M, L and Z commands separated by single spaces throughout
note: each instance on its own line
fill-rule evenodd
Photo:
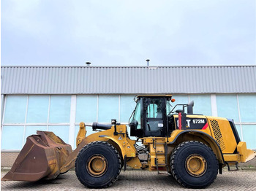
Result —
M 206 144 L 185 141 L 173 150 L 170 169 L 176 181 L 184 187 L 205 188 L 218 174 L 218 160 Z

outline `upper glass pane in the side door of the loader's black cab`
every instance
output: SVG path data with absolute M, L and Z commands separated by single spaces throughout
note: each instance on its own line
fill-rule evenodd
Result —
M 147 118 L 162 118 L 162 100 L 151 99 L 147 108 Z

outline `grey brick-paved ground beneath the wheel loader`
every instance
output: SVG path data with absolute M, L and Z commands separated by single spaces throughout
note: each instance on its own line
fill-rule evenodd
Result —
M 7 172 L 1 172 L 1 177 Z M 89 190 L 80 184 L 75 171 L 61 174 L 54 180 L 39 182 L 1 181 L 1 190 Z M 149 171 L 121 172 L 118 181 L 101 190 L 192 190 L 181 187 L 173 176 Z M 223 171 L 210 187 L 204 190 L 256 190 L 256 171 Z

